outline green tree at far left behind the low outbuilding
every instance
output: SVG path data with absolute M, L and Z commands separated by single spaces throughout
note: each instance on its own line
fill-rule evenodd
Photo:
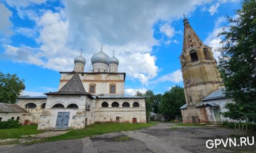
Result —
M 0 102 L 14 104 L 20 91 L 24 88 L 24 80 L 16 74 L 0 72 Z

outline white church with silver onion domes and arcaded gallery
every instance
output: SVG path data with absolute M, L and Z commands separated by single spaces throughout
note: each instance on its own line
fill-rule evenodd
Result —
M 92 72 L 84 72 L 85 59 L 76 57 L 72 72 L 60 72 L 59 91 L 47 96 L 20 96 L 26 122 L 38 129 L 80 129 L 95 122 L 146 123 L 145 97 L 125 95 L 125 73 L 119 61 L 102 49 L 91 58 Z

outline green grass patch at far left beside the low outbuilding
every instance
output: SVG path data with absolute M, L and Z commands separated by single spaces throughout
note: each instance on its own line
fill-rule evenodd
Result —
M 44 131 L 36 130 L 38 125 L 25 125 L 13 129 L 0 129 L 0 139 L 22 138 L 24 135 L 38 134 Z

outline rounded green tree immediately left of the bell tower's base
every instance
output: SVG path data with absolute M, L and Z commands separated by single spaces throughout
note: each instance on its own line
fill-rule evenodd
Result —
M 180 86 L 172 87 L 164 92 L 160 103 L 160 113 L 167 115 L 171 120 L 181 116 L 180 106 L 185 103 L 184 89 Z

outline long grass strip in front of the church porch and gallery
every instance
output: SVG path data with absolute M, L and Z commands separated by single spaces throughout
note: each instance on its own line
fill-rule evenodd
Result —
M 149 126 L 156 125 L 156 124 L 158 123 L 148 122 L 147 124 L 114 124 L 114 123 L 93 124 L 93 125 L 87 126 L 85 129 L 70 130 L 66 134 L 46 138 L 45 141 L 80 139 L 80 138 L 89 137 L 92 135 L 101 135 L 105 133 L 112 133 L 112 132 L 118 132 L 118 131 L 137 130 L 137 129 L 147 128 Z

